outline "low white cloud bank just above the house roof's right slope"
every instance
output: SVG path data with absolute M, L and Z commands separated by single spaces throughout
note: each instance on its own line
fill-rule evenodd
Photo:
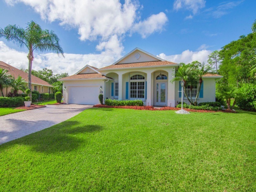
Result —
M 161 53 L 157 56 L 167 61 L 171 61 L 175 63 L 180 63 L 180 62 L 191 63 L 192 61 L 207 63 L 208 55 L 211 52 L 212 52 L 211 50 L 201 50 L 196 52 L 186 50 L 186 51 L 183 51 L 181 54 L 177 54 L 177 55 L 165 55 L 164 53 Z

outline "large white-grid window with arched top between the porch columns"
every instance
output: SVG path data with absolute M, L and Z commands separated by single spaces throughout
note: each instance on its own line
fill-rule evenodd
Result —
M 145 77 L 143 75 L 133 75 L 130 77 L 130 98 L 145 98 Z

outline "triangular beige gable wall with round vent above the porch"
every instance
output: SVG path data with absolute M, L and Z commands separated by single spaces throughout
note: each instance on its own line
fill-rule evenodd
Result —
M 140 54 L 139 59 L 135 58 L 135 55 L 137 53 Z M 147 55 L 147 54 L 137 50 L 137 51 L 135 51 L 134 53 L 132 53 L 131 55 L 124 58 L 123 60 L 121 60 L 118 63 L 119 64 L 124 64 L 124 63 L 138 63 L 138 62 L 149 62 L 149 61 L 159 61 L 159 60 L 150 56 L 150 55 Z

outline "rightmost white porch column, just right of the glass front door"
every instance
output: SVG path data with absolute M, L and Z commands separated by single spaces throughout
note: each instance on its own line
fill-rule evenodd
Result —
M 171 83 L 170 81 L 174 78 L 172 76 L 173 72 L 175 71 L 175 68 L 172 67 L 168 71 L 168 101 L 167 105 L 168 107 L 175 107 L 175 82 Z

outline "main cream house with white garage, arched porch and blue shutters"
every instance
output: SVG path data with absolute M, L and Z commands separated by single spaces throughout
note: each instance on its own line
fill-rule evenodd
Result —
M 97 69 L 86 65 L 75 75 L 60 79 L 63 81 L 63 98 L 67 103 L 97 104 L 98 95 L 104 99 L 142 100 L 145 105 L 166 105 L 174 107 L 181 101 L 180 82 L 171 83 L 180 64 L 165 61 L 139 48 L 110 66 Z M 203 77 L 198 103 L 215 101 L 215 80 L 219 75 Z M 197 85 L 188 94 L 197 93 Z M 186 101 L 186 97 L 184 97 Z

